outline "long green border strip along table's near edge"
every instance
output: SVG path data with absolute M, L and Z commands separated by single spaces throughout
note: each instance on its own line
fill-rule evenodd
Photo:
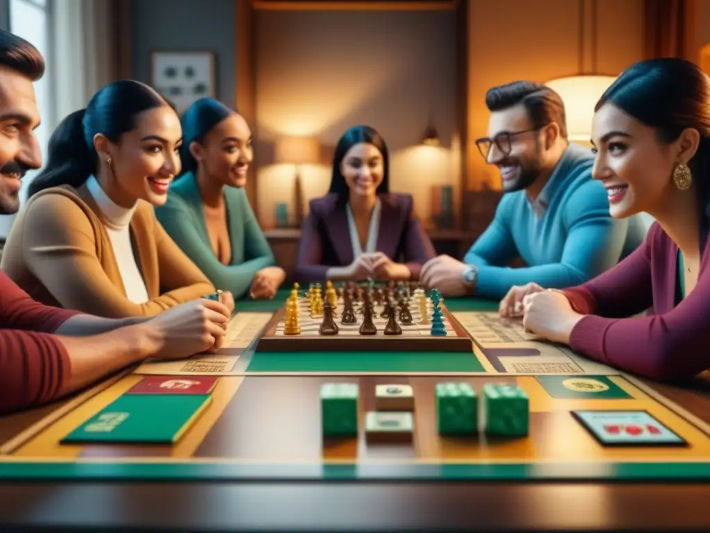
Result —
M 3 481 L 610 481 L 709 482 L 710 463 L 268 464 L 0 463 Z

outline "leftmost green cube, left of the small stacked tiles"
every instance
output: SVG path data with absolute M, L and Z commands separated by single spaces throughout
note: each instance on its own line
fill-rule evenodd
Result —
M 358 434 L 358 397 L 359 389 L 354 383 L 325 383 L 320 387 L 324 437 Z

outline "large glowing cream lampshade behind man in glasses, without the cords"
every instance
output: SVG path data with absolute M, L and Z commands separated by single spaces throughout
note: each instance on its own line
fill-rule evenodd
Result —
M 589 142 L 594 106 L 614 80 L 613 76 L 586 75 L 559 77 L 545 83 L 562 98 L 570 141 Z

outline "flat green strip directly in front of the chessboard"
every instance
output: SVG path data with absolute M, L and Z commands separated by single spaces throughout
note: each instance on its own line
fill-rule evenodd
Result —
M 247 372 L 486 372 L 473 352 L 256 352 Z

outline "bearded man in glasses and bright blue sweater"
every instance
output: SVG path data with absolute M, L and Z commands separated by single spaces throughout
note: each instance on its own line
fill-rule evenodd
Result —
M 591 177 L 590 149 L 567 140 L 564 104 L 534 82 L 493 87 L 488 136 L 476 145 L 503 178 L 493 222 L 460 262 L 427 262 L 420 282 L 446 296 L 501 299 L 513 286 L 562 289 L 615 265 L 645 238 L 638 218 L 614 220 L 608 195 Z M 520 257 L 525 268 L 510 268 Z

